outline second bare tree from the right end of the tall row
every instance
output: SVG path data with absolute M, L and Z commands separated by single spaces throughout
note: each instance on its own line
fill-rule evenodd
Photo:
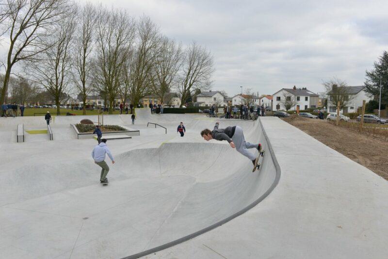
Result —
M 173 40 L 162 37 L 158 49 L 153 62 L 155 76 L 151 77 L 151 87 L 152 92 L 164 103 L 167 101 L 164 100 L 165 94 L 177 83 L 176 76 L 182 64 L 182 48 Z

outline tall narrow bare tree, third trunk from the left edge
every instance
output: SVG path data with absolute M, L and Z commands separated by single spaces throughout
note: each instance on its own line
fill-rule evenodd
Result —
M 92 74 L 93 71 L 93 37 L 95 34 L 96 24 L 96 8 L 87 3 L 83 6 L 79 16 L 80 23 L 78 24 L 75 36 L 75 73 L 73 73 L 73 81 L 77 92 L 82 98 L 83 111 L 86 114 L 86 97 L 92 92 Z

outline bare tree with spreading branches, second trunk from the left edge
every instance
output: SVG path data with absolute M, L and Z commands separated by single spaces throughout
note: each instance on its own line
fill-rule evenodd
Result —
M 76 8 L 63 15 L 61 23 L 55 26 L 49 49 L 37 54 L 38 59 L 27 66 L 27 73 L 33 81 L 41 84 L 53 97 L 60 113 L 60 100 L 69 89 L 72 60 L 71 42 L 76 28 Z

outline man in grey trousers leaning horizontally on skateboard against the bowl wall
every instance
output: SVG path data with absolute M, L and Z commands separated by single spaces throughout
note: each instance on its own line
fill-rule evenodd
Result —
M 226 127 L 225 129 L 218 129 L 219 122 L 214 126 L 214 129 L 204 129 L 201 131 L 201 136 L 209 141 L 211 139 L 215 140 L 226 140 L 232 148 L 241 153 L 243 156 L 249 158 L 252 161 L 253 165 L 258 163 L 259 157 L 252 154 L 248 151 L 248 148 L 257 148 L 259 152 L 261 151 L 261 144 L 253 144 L 245 141 L 244 134 L 240 126 Z

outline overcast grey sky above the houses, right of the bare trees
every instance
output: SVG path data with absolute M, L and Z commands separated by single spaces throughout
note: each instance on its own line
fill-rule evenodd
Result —
M 82 0 L 83 1 L 83 0 Z M 163 34 L 211 51 L 213 90 L 322 92 L 337 77 L 362 85 L 388 50 L 387 0 L 91 0 L 143 14 Z

